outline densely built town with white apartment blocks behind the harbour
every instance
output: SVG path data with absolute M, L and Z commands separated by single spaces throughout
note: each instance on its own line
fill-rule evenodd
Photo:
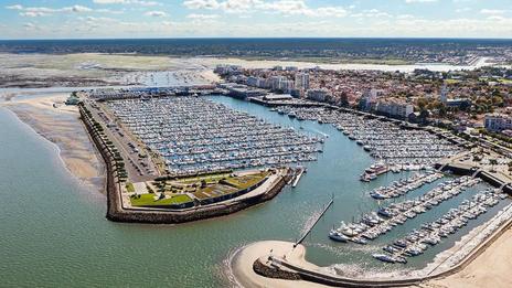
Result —
M 225 81 L 220 87 L 241 98 L 326 103 L 437 125 L 465 138 L 491 137 L 512 147 L 512 70 L 508 68 L 402 73 L 220 65 L 215 73 Z

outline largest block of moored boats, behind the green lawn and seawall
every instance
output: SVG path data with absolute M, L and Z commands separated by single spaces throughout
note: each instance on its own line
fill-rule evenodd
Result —
M 164 158 L 171 174 L 314 161 L 324 141 L 202 97 L 124 99 L 107 106 Z

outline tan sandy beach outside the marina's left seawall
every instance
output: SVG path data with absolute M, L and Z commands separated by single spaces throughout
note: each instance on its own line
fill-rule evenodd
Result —
M 104 164 L 88 135 L 78 120 L 78 109 L 65 106 L 68 94 L 53 94 L 31 99 L 10 99 L 0 103 L 38 134 L 60 148 L 60 154 L 70 172 L 89 188 L 104 190 Z M 53 104 L 57 104 L 57 108 Z

